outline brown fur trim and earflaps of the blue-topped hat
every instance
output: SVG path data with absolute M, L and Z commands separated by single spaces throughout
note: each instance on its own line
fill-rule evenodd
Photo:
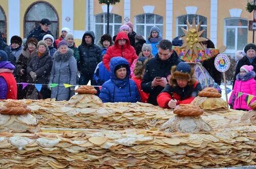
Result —
M 194 77 L 195 70 L 194 68 L 191 68 L 190 74 L 189 73 L 182 73 L 180 71 L 176 71 L 177 66 L 173 66 L 172 69 L 170 70 L 170 80 L 169 80 L 169 85 L 170 86 L 178 86 L 177 84 L 177 79 L 186 79 L 188 80 L 187 85 L 191 86 L 196 83 L 196 79 Z

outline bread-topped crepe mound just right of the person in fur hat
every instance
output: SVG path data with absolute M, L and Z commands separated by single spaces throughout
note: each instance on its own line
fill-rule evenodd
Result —
M 227 102 L 221 98 L 221 93 L 213 87 L 204 88 L 191 104 L 199 106 L 207 112 L 228 112 Z

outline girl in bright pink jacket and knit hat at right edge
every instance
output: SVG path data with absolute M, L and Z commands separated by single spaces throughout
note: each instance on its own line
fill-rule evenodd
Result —
M 240 74 L 236 77 L 237 80 L 234 82 L 234 88 L 228 101 L 228 104 L 230 104 L 233 109 L 251 110 L 248 105 L 256 100 L 256 81 L 254 77 L 255 72 L 253 71 L 253 66 L 243 65 L 240 68 Z M 243 93 L 243 95 L 238 98 L 239 92 Z M 248 94 L 253 96 L 249 104 L 247 104 L 249 98 Z

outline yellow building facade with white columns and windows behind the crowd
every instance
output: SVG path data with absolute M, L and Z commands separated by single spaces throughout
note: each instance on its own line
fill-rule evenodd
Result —
M 164 38 L 172 40 L 186 29 L 186 20 L 196 24 L 202 21 L 204 37 L 211 39 L 218 48 L 227 46 L 225 53 L 233 54 L 252 42 L 252 31 L 248 30 L 252 13 L 246 11 L 246 0 L 121 0 L 110 6 L 110 34 L 116 35 L 120 25 L 134 23 L 134 31 L 149 35 L 157 26 Z M 52 21 L 50 30 L 55 38 L 60 30 L 68 27 L 80 44 L 85 31 L 95 32 L 96 41 L 106 33 L 107 6 L 98 0 L 1 0 L 0 30 L 7 36 L 26 38 L 42 18 Z

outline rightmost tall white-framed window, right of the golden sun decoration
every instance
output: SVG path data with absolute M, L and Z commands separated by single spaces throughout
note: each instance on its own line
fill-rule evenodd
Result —
M 224 45 L 226 53 L 236 53 L 243 50 L 247 44 L 248 21 L 242 18 L 228 18 L 225 20 Z

